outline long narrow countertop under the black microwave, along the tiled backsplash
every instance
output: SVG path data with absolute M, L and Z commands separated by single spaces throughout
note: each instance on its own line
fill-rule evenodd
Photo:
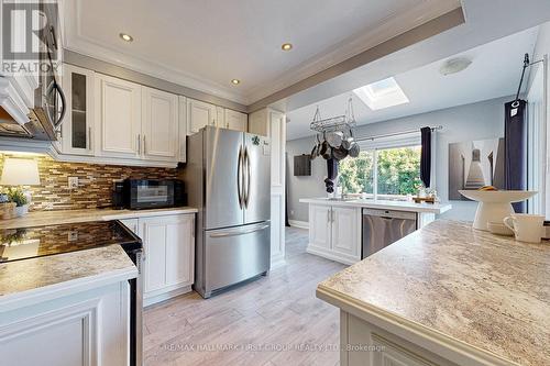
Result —
M 158 215 L 195 213 L 195 212 L 197 212 L 197 209 L 191 207 L 140 210 L 140 211 L 113 210 L 113 209 L 33 211 L 22 218 L 0 220 L 0 230 L 43 226 L 43 225 L 63 224 L 63 223 L 78 223 L 78 222 L 89 222 L 89 221 L 138 219 L 144 217 L 158 217 Z

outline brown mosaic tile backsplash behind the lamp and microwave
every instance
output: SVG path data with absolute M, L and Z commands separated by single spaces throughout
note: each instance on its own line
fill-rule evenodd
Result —
M 61 163 L 46 155 L 0 154 L 0 173 L 6 157 L 38 162 L 40 186 L 31 186 L 31 211 L 110 208 L 112 184 L 125 178 L 177 179 L 178 169 Z M 78 177 L 78 189 L 68 189 L 68 177 Z M 26 187 L 25 187 L 26 188 Z

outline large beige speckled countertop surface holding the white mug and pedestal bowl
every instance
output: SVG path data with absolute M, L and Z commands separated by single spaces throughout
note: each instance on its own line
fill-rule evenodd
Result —
M 550 365 L 550 243 L 436 221 L 319 284 L 318 297 L 520 365 Z

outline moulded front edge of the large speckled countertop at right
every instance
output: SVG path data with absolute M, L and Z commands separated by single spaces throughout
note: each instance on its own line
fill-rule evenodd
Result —
M 453 339 L 442 332 L 385 311 L 382 308 L 359 301 L 326 286 L 319 285 L 317 287 L 316 297 L 342 311 L 385 329 L 397 336 L 408 340 L 415 339 L 416 342 L 414 343 L 417 345 L 459 365 L 468 361 L 470 365 L 520 366 L 494 353 Z M 443 347 L 444 350 L 436 350 L 435 346 Z

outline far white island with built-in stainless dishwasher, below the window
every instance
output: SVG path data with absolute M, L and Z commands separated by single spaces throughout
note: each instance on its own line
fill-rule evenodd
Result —
M 365 209 L 377 211 L 382 218 L 386 217 L 386 213 L 396 212 L 398 218 L 407 219 L 407 225 L 391 220 L 383 224 L 383 226 L 399 226 L 404 231 L 402 234 L 407 234 L 426 226 L 436 220 L 436 214 L 441 214 L 452 208 L 451 204 L 442 203 L 372 199 L 311 198 L 300 199 L 300 202 L 309 204 L 307 252 L 343 264 L 358 263 L 369 254 L 363 255 L 362 243 Z M 386 229 L 377 228 L 376 237 L 381 237 L 380 231 L 387 231 Z

